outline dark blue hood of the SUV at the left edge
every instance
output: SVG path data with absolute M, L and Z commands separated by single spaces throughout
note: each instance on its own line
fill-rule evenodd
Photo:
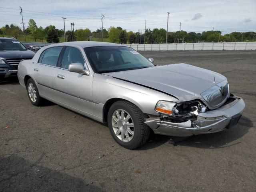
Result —
M 0 50 L 0 58 L 32 58 L 35 53 L 31 50 Z

